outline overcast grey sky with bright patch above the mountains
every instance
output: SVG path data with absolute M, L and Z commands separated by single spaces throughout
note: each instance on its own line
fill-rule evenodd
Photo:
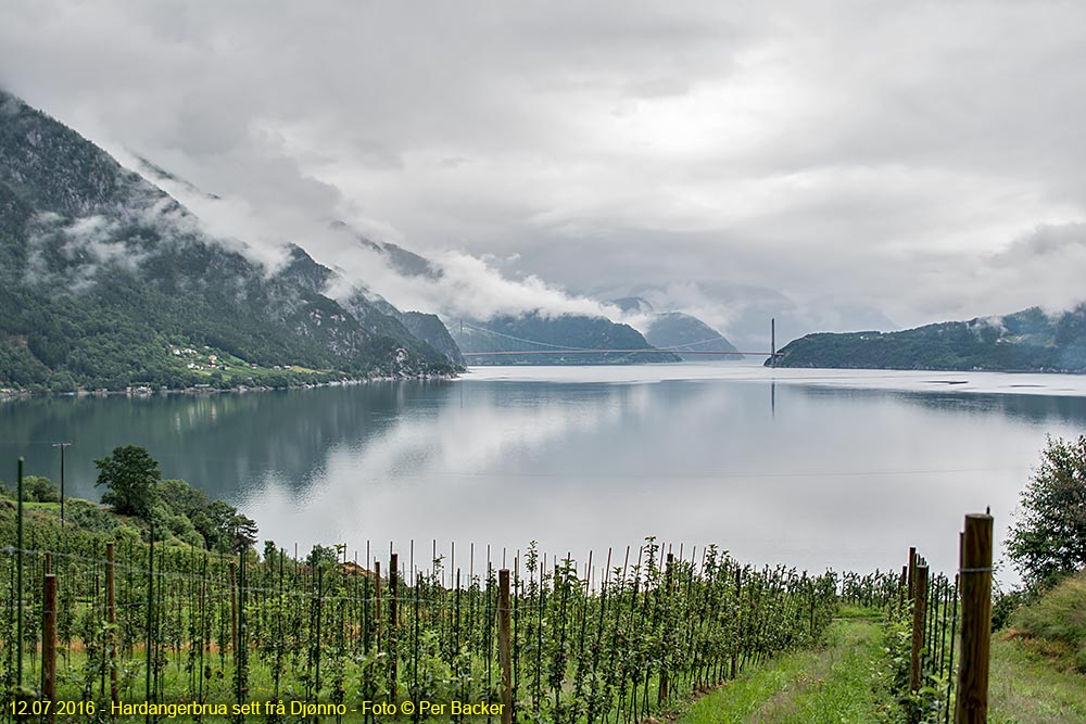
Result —
M 0 86 L 254 218 L 901 325 L 1086 297 L 1084 78 L 1070 1 L 0 7 Z

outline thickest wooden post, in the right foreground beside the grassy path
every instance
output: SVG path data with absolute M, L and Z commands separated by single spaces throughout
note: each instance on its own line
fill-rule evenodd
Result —
M 965 516 L 961 548 L 961 658 L 956 724 L 988 721 L 992 645 L 992 516 Z

